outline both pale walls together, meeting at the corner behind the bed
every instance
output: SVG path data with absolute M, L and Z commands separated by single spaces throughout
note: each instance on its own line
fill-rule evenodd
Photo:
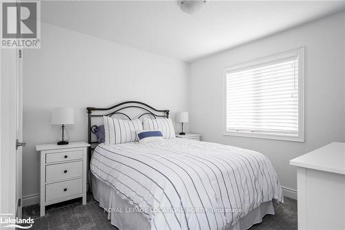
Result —
M 191 132 L 211 142 L 264 153 L 282 186 L 296 189 L 290 159 L 333 141 L 345 141 L 345 15 L 339 14 L 193 61 L 153 55 L 46 23 L 41 49 L 23 53 L 23 202 L 37 201 L 39 155 L 35 144 L 55 142 L 50 110 L 75 108 L 72 140 L 87 140 L 86 106 L 137 99 L 157 108 L 189 111 Z M 224 66 L 306 46 L 306 142 L 222 135 Z M 68 51 L 67 51 L 68 50 Z M 188 79 L 189 77 L 189 79 Z M 189 98 L 189 99 L 188 99 Z M 29 203 L 28 203 L 29 202 Z

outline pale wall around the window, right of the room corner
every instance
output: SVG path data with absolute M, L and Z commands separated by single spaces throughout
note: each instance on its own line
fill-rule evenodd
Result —
M 345 141 L 344 13 L 194 61 L 190 66 L 190 131 L 204 140 L 264 153 L 282 186 L 296 189 L 289 160 L 335 141 Z M 251 59 L 306 46 L 306 142 L 222 135 L 222 69 Z M 293 195 L 293 194 L 292 194 Z

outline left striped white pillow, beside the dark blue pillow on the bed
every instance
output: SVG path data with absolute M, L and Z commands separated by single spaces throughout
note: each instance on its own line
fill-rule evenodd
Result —
M 124 120 L 103 116 L 106 144 L 136 142 L 138 129 L 143 129 L 140 119 Z

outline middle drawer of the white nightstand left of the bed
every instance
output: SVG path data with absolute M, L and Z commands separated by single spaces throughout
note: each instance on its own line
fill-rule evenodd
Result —
M 83 162 L 66 162 L 46 166 L 46 182 L 68 180 L 83 175 Z

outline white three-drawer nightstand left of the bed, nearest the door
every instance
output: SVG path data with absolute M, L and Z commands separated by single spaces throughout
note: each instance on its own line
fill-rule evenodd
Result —
M 36 146 L 41 154 L 41 216 L 45 215 L 47 205 L 65 200 L 82 197 L 86 204 L 88 146 L 86 142 Z

